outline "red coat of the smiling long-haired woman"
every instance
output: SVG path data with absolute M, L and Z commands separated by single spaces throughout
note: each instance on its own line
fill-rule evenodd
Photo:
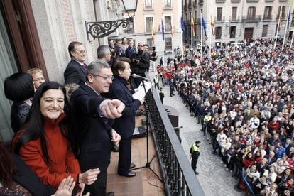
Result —
M 77 174 L 81 173 L 80 165 L 75 159 L 74 154 L 67 138 L 62 135 L 59 123 L 65 114 L 61 114 L 58 119 L 53 121 L 44 119 L 44 133 L 47 141 L 48 155 L 53 163 L 46 164 L 42 157 L 40 139 L 29 141 L 19 150 L 21 159 L 33 170 L 38 178 L 46 184 L 58 188 L 63 178 L 72 176 L 77 181 Z M 16 146 L 22 131 L 18 131 L 13 138 L 13 146 Z

